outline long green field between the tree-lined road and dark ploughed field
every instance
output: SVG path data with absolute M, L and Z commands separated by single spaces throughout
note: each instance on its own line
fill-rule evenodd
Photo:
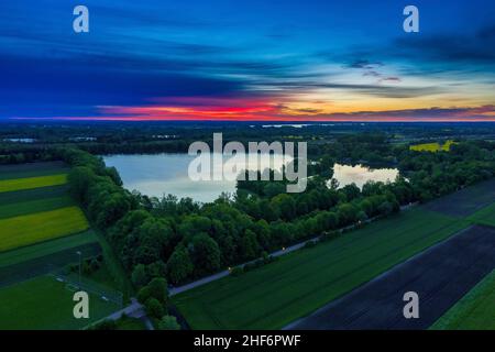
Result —
M 411 209 L 173 301 L 193 329 L 279 329 L 468 226 Z

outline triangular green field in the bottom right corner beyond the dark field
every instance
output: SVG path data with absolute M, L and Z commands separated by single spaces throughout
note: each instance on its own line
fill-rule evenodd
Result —
M 495 271 L 471 289 L 430 329 L 495 330 Z

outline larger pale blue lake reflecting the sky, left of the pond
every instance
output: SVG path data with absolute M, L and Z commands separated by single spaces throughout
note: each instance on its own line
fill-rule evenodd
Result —
M 213 156 L 221 154 L 211 153 Z M 249 160 L 248 154 L 239 154 Z M 223 157 L 228 161 L 231 156 Z M 208 202 L 217 199 L 221 193 L 235 191 L 235 180 L 193 180 L 188 176 L 189 163 L 196 156 L 188 154 L 143 154 L 143 155 L 110 155 L 103 156 L 107 166 L 114 166 L 127 189 L 136 189 L 150 197 L 162 197 L 172 194 L 177 198 L 190 197 L 194 200 Z M 271 163 L 272 160 L 272 163 Z M 290 161 L 288 161 L 290 162 Z M 272 165 L 274 169 L 282 169 L 284 158 L 280 154 L 260 155 L 261 169 Z M 256 163 L 248 164 L 249 169 L 256 169 Z M 215 173 L 221 172 L 221 165 L 211 164 Z

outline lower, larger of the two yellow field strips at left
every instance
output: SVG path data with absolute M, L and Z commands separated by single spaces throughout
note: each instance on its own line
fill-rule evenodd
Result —
M 0 220 L 0 252 L 13 250 L 88 229 L 88 221 L 78 207 Z

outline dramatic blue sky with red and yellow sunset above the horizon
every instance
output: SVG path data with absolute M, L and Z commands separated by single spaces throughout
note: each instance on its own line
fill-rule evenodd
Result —
M 3 121 L 495 121 L 495 1 L 1 0 L 0 77 Z

